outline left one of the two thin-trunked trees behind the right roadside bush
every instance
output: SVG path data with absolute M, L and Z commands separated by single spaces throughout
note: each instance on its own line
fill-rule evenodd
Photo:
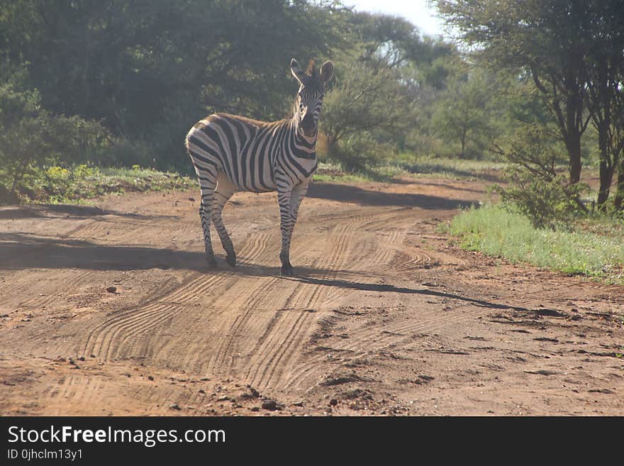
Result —
M 581 1 L 438 0 L 486 66 L 526 70 L 557 123 L 569 180 L 581 177 L 581 136 L 587 128 L 584 76 L 587 41 Z

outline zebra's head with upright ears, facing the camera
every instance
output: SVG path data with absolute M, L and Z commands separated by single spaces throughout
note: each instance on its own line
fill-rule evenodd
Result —
M 295 119 L 298 131 L 307 138 L 315 138 L 318 131 L 318 117 L 321 116 L 325 84 L 334 74 L 332 62 L 325 62 L 318 71 L 314 61 L 310 60 L 307 70 L 302 70 L 294 58 L 290 62 L 290 70 L 299 81 L 299 92 L 295 101 Z

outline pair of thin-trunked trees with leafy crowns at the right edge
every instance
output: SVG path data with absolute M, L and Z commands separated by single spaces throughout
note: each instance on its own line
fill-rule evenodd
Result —
M 481 65 L 530 77 L 581 179 L 581 138 L 598 133 L 604 206 L 624 151 L 624 4 L 619 0 L 438 0 Z M 616 201 L 615 204 L 618 204 Z

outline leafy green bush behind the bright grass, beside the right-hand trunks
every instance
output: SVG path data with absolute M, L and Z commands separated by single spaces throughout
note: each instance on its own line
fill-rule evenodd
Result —
M 503 205 L 527 216 L 535 228 L 556 228 L 571 223 L 586 212 L 581 194 L 589 190 L 584 183 L 569 183 L 558 167 L 564 155 L 557 139 L 547 128 L 520 127 L 513 138 L 498 145 L 498 152 L 511 165 L 506 170 L 506 185 L 497 185 Z

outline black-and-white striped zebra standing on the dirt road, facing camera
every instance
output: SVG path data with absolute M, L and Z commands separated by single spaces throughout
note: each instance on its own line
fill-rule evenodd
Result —
M 282 231 L 282 275 L 291 275 L 290 243 L 301 199 L 316 172 L 316 140 L 325 85 L 333 77 L 332 62 L 318 70 L 313 60 L 304 71 L 293 58 L 290 70 L 299 82 L 292 118 L 264 122 L 228 113 L 214 113 L 197 122 L 186 135 L 199 185 L 199 217 L 204 230 L 206 260 L 216 267 L 210 222 L 214 223 L 227 254 L 236 265 L 236 254 L 223 226 L 223 206 L 235 192 L 277 191 Z

